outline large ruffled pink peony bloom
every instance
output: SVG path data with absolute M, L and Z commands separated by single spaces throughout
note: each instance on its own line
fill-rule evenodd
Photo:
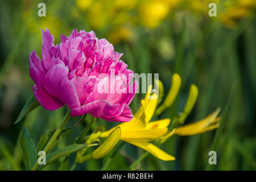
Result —
M 30 53 L 34 95 L 44 109 L 67 105 L 73 117 L 89 113 L 107 121 L 130 121 L 129 105 L 138 83 L 129 84 L 133 71 L 119 60 L 122 54 L 93 31 L 73 30 L 67 38 L 61 35 L 56 46 L 53 39 L 47 28 L 42 30 L 42 61 L 35 51 Z M 102 93 L 102 85 L 110 85 L 104 89 L 114 92 Z M 117 88 L 121 92 L 115 92 Z

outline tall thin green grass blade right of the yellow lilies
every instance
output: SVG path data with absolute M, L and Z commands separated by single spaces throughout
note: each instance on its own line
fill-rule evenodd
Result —
M 234 88 L 236 88 L 236 84 L 237 83 L 235 82 L 234 85 L 232 86 L 231 91 L 230 91 L 229 101 L 226 104 L 226 107 L 225 107 L 225 110 L 224 110 L 224 114 L 223 114 L 223 117 L 222 117 L 221 122 L 220 122 L 220 126 L 218 127 L 218 130 L 217 130 L 217 132 L 215 134 L 215 137 L 214 137 L 214 140 L 213 140 L 212 151 L 216 151 L 217 152 L 218 143 L 220 143 L 221 134 L 222 134 L 222 131 L 223 131 L 223 128 L 224 128 L 224 123 L 225 123 L 227 115 L 228 115 L 228 110 L 229 110 L 230 102 L 232 100 L 233 91 L 234 91 Z M 207 167 L 205 168 L 205 170 L 211 170 L 211 169 L 213 169 L 213 167 L 214 167 L 214 165 L 210 165 L 209 163 L 207 163 Z

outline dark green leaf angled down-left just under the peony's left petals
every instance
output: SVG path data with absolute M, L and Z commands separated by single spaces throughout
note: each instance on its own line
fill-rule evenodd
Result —
M 14 124 L 20 122 L 30 111 L 34 110 L 36 107 L 40 106 L 39 102 L 35 99 L 34 96 L 31 96 L 26 104 L 24 105 L 22 111 L 20 111 L 18 118 Z

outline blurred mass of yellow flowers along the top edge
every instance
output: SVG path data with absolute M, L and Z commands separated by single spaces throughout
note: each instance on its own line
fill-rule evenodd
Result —
M 209 3 L 217 4 L 217 19 L 234 28 L 236 20 L 248 16 L 256 9 L 255 0 L 76 0 L 76 6 L 85 14 L 86 25 L 94 30 L 104 30 L 110 42 L 133 42 L 135 26 L 158 27 L 164 19 L 185 11 L 197 18 L 209 18 Z M 223 6 L 222 6 L 223 5 Z M 79 13 L 73 9 L 74 17 Z M 211 18 L 209 18 L 211 19 Z

